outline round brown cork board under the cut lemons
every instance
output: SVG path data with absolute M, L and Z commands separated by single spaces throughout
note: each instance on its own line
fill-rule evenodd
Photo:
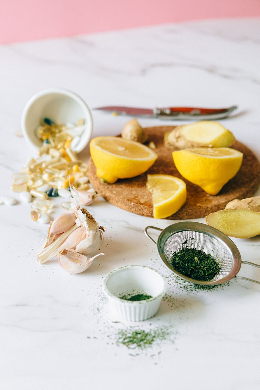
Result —
M 164 133 L 175 126 L 157 126 L 145 128 L 149 142 L 156 145 L 158 155 L 154 165 L 145 173 L 130 179 L 119 179 L 113 184 L 101 183 L 96 176 L 96 167 L 90 158 L 88 178 L 94 189 L 111 204 L 120 209 L 138 215 L 153 217 L 152 194 L 146 188 L 147 174 L 166 174 L 180 177 L 187 185 L 187 200 L 177 213 L 167 217 L 170 220 L 203 218 L 206 215 L 224 209 L 232 199 L 244 199 L 253 196 L 260 184 L 260 164 L 248 147 L 235 141 L 234 149 L 244 154 L 239 172 L 228 181 L 217 195 L 209 195 L 202 188 L 184 179 L 173 163 L 172 151 L 164 146 Z

